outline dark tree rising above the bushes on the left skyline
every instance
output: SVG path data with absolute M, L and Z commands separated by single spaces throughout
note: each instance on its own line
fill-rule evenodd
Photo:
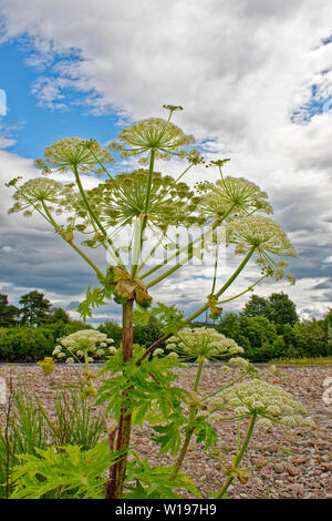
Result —
M 22 325 L 41 326 L 49 320 L 51 303 L 44 297 L 43 293 L 27 293 L 20 298 L 20 315 Z

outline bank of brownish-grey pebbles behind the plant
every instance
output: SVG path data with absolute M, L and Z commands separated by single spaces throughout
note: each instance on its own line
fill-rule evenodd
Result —
M 94 372 L 98 367 L 93 368 Z M 38 366 L 3 365 L 0 377 L 8 382 L 12 378 L 14 385 L 25 382 L 31 392 L 37 392 L 48 408 L 51 407 L 52 395 L 68 382 L 77 382 L 81 368 L 56 366 L 51 376 L 43 376 Z M 314 421 L 313 429 L 279 428 L 272 432 L 257 431 L 251 441 L 251 448 L 243 459 L 246 467 L 262 464 L 269 458 L 276 458 L 281 448 L 288 450 L 287 456 L 278 458 L 263 468 L 251 471 L 249 482 L 241 484 L 234 481 L 229 489 L 230 498 L 299 498 L 299 499 L 332 499 L 332 405 L 324 403 L 322 395 L 326 387 L 325 378 L 332 377 L 332 367 L 290 367 L 279 366 L 278 375 L 270 367 L 259 367 L 261 376 L 271 384 L 280 385 L 297 399 L 305 403 L 308 416 Z M 194 385 L 196 368 L 178 369 L 177 384 L 186 388 Z M 226 385 L 236 371 L 220 371 L 217 366 L 205 369 L 201 390 L 212 391 Z M 0 405 L 0 412 L 3 406 Z M 220 429 L 220 449 L 228 452 L 234 446 L 236 426 L 222 426 Z M 146 438 L 146 432 L 135 428 L 133 446 L 143 457 L 153 458 L 155 464 L 172 464 L 168 456 L 158 457 L 153 442 Z M 228 458 L 231 454 L 228 453 Z M 221 464 L 206 457 L 199 446 L 193 443 L 187 453 L 184 470 L 194 479 L 203 493 L 217 491 L 222 480 Z

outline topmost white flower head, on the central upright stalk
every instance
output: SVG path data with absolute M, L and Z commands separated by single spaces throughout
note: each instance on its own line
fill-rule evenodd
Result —
M 110 149 L 120 152 L 123 157 L 154 151 L 156 159 L 168 160 L 172 155 L 185 155 L 185 147 L 194 141 L 191 135 L 185 134 L 174 123 L 151 118 L 121 131 Z

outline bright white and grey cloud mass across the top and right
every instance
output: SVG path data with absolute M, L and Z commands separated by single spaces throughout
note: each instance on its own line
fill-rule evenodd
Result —
M 68 88 L 86 92 L 96 114 L 111 106 L 121 118 L 147 118 L 165 102 L 184 105 L 177 121 L 209 139 L 208 155 L 231 157 L 227 173 L 269 192 L 299 248 L 298 269 L 311 270 L 292 295 L 322 313 L 325 303 L 308 303 L 308 294 L 323 297 L 312 290 L 315 248 L 326 257 L 331 243 L 332 43 L 322 45 L 331 3 L 1 0 L 0 9 L 4 38 L 28 34 L 33 62 L 48 63 L 34 90 L 49 108 L 65 105 Z M 52 69 L 54 53 L 63 60 Z M 310 119 L 313 85 L 326 112 Z M 1 170 L 9 167 L 3 157 Z

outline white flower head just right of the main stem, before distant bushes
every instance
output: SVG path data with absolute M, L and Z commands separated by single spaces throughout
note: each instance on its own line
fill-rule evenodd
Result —
M 167 349 L 187 360 L 216 360 L 243 353 L 243 349 L 235 340 L 207 327 L 180 329 L 177 336 L 173 336 L 166 341 Z

